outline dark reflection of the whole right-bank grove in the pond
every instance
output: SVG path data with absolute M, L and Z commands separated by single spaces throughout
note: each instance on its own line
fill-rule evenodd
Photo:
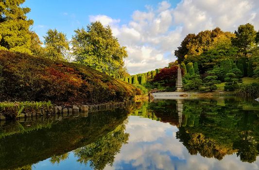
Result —
M 234 99 L 184 102 L 182 128 L 176 137 L 190 154 L 222 159 L 237 152 L 244 162 L 259 155 L 259 117 L 251 102 Z M 249 133 L 248 133 L 249 132 Z

